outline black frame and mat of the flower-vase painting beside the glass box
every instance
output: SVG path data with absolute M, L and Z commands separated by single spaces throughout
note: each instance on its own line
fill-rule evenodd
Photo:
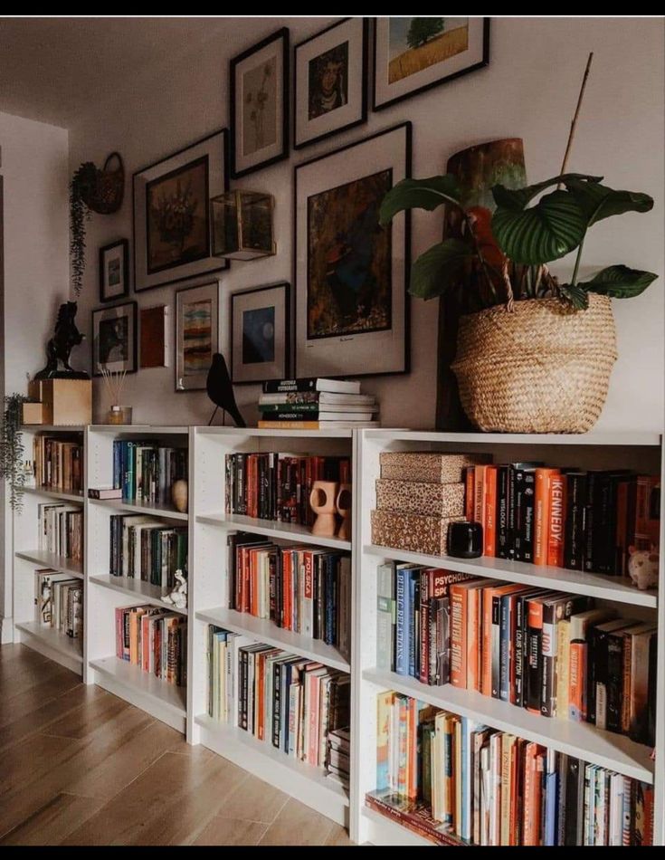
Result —
M 205 161 L 205 194 L 203 212 L 207 221 L 208 253 L 191 261 L 153 267 L 147 253 L 147 193 L 150 186 L 168 177 L 176 177 L 187 168 Z M 164 169 L 160 172 L 159 168 Z M 134 245 L 134 291 L 146 292 L 172 283 L 191 282 L 227 269 L 229 263 L 212 253 L 212 223 L 210 198 L 223 194 L 229 187 L 229 133 L 217 129 L 186 147 L 177 149 L 166 158 L 141 167 L 132 176 L 132 239 Z

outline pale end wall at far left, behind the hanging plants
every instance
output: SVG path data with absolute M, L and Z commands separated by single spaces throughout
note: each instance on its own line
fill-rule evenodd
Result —
M 3 395 L 26 394 L 26 374 L 43 368 L 55 311 L 69 292 L 66 129 L 0 113 L 5 192 L 5 289 L 0 296 Z M 3 487 L 3 491 L 5 487 Z M 0 624 L 12 610 L 12 517 L 0 492 Z M 26 548 L 27 549 L 27 548 Z M 11 635 L 3 625 L 3 640 Z

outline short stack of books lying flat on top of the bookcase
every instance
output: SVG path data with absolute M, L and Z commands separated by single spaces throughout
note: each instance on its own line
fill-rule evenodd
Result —
M 334 430 L 377 427 L 375 397 L 346 379 L 281 379 L 264 382 L 259 426 L 270 430 Z

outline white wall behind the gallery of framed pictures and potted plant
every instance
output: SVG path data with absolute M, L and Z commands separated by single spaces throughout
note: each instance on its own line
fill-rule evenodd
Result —
M 148 69 L 130 92 L 118 92 L 97 115 L 71 129 L 71 169 L 83 160 L 100 164 L 112 149 L 125 158 L 128 173 L 228 124 L 227 68 L 233 54 L 288 24 L 297 43 L 324 19 L 256 19 L 255 36 L 234 39 L 233 21 L 211 22 L 204 43 L 192 44 L 170 65 Z M 137 26 L 141 26 L 137 22 Z M 440 173 L 447 158 L 484 140 L 525 141 L 531 181 L 558 173 L 586 56 L 594 67 L 569 168 L 603 174 L 610 186 L 646 191 L 656 199 L 650 215 L 625 215 L 594 228 L 586 243 L 587 266 L 626 263 L 658 272 L 641 298 L 614 302 L 620 358 L 598 429 L 656 429 L 663 408 L 663 21 L 660 19 L 494 19 L 487 69 L 462 77 L 392 109 L 371 113 L 366 126 L 292 154 L 290 160 L 246 177 L 239 186 L 269 190 L 277 198 L 278 255 L 235 263 L 223 274 L 225 304 L 222 349 L 227 352 L 226 308 L 232 291 L 292 280 L 293 166 L 361 139 L 404 119 L 413 122 L 413 176 Z M 113 81 L 109 81 L 112 87 Z M 131 185 L 118 215 L 94 216 L 80 324 L 90 330 L 98 304 L 97 248 L 131 237 Z M 413 253 L 440 238 L 441 217 L 417 213 Z M 565 274 L 565 267 L 555 267 Z M 141 305 L 173 302 L 174 287 L 142 293 Z M 413 301 L 412 373 L 366 379 L 364 387 L 382 401 L 385 425 L 431 427 L 435 409 L 436 302 Z M 245 416 L 255 420 L 258 387 L 240 387 Z M 135 421 L 200 423 L 210 415 L 204 393 L 174 393 L 174 370 L 152 369 L 132 377 L 126 400 Z M 96 417 L 106 405 L 97 399 Z

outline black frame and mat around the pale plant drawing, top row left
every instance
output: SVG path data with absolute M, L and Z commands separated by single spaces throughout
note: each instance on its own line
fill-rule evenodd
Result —
M 241 164 L 242 156 L 239 155 L 242 153 L 242 148 L 238 146 L 237 134 L 239 129 L 242 129 L 242 123 L 238 122 L 238 118 L 236 116 L 236 111 L 239 107 L 239 103 L 242 104 L 243 100 L 238 99 L 237 86 L 239 82 L 239 67 L 241 64 L 247 60 L 249 60 L 253 55 L 261 53 L 265 49 L 269 48 L 272 43 L 281 42 L 280 53 L 281 62 L 276 63 L 277 67 L 280 69 L 281 80 L 282 80 L 282 97 L 280 99 L 280 107 L 281 107 L 281 122 L 279 118 L 276 117 L 276 141 L 275 141 L 275 154 L 269 156 L 268 158 L 264 158 L 261 161 L 254 162 L 252 164 L 246 164 L 244 167 Z M 235 57 L 232 57 L 229 61 L 229 124 L 231 128 L 230 135 L 230 153 L 231 153 L 231 176 L 233 179 L 239 179 L 240 177 L 246 177 L 248 174 L 254 173 L 256 170 L 261 170 L 263 167 L 268 167 L 271 164 L 276 164 L 278 161 L 282 161 L 284 158 L 289 158 L 289 128 L 290 128 L 290 35 L 288 27 L 281 27 L 280 30 L 275 31 L 275 33 L 271 33 L 270 36 L 267 36 L 265 39 L 262 39 L 261 42 L 257 42 L 253 44 L 252 47 L 247 48 L 246 51 L 237 54 Z M 277 139 L 279 138 L 279 140 Z

